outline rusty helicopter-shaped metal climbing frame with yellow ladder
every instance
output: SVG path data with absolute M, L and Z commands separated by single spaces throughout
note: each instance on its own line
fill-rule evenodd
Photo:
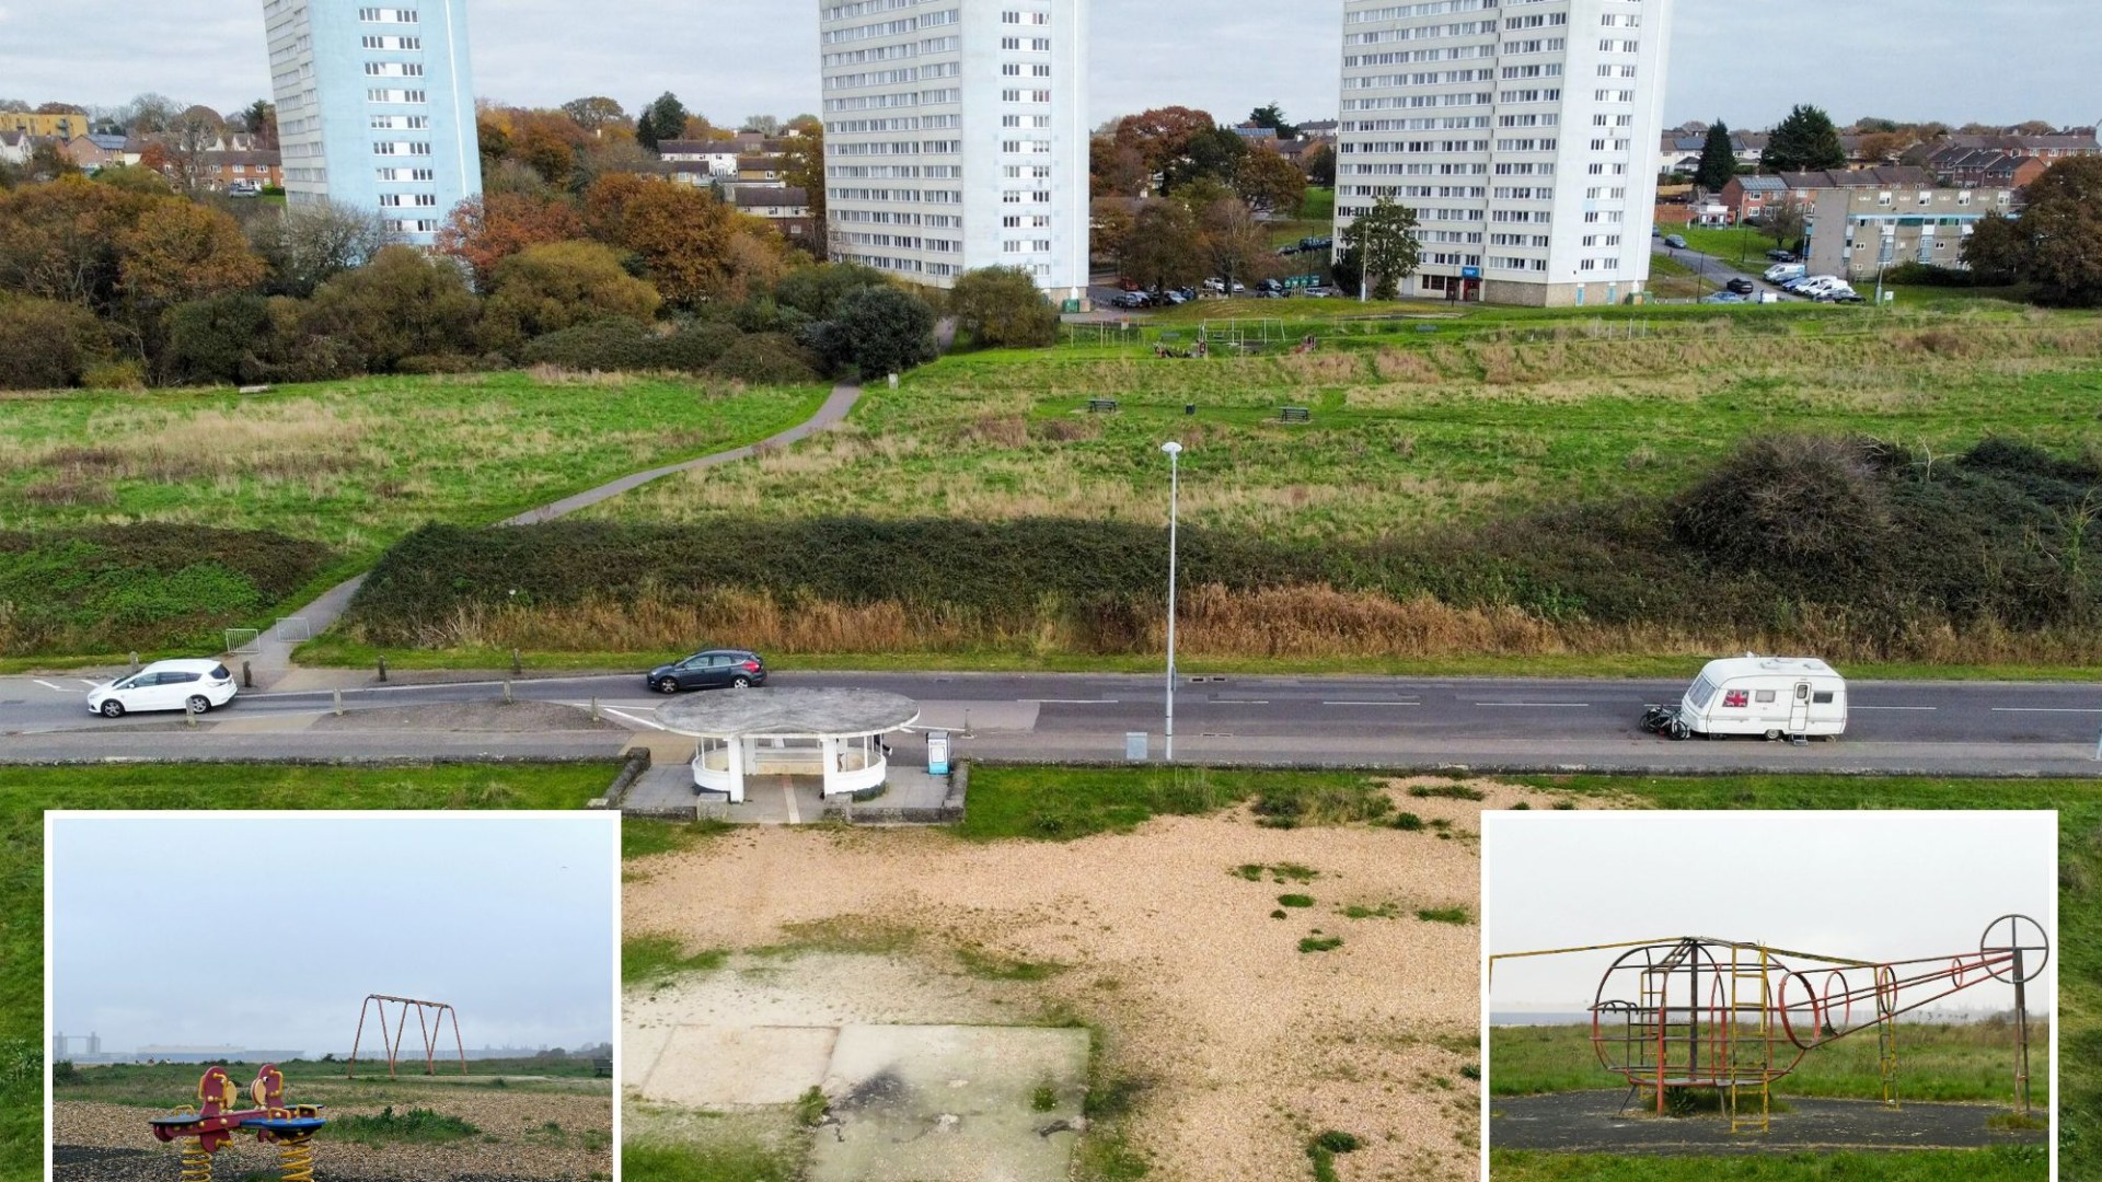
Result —
M 2022 1037 L 2016 1096 L 2028 1115 L 2028 982 L 2052 959 L 2043 925 L 2026 915 L 1986 923 L 1976 953 L 1862 961 L 1797 953 L 1738 940 L 1679 936 L 1583 949 L 1499 953 L 1497 961 L 1570 953 L 1623 953 L 1598 982 L 1591 1049 L 1627 1079 L 1627 1098 L 1656 1092 L 1665 1113 L 1671 1089 L 1713 1087 L 1730 1132 L 1768 1132 L 1770 1087 L 1812 1049 L 1875 1026 L 1883 1104 L 1898 1106 L 1896 1018 L 1986 982 L 2014 986 Z M 1854 1010 L 1860 1010 L 1856 1014 Z M 1627 1104 L 1623 1104 L 1625 1108 Z

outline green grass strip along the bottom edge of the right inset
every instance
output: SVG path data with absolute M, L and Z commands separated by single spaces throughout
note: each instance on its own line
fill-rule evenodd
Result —
M 1492 1148 L 1497 1182 L 2041 1182 L 2043 1146 L 1921 1153 L 1738 1153 L 1728 1157 L 1610 1157 Z M 2062 1174 L 2083 1178 L 2083 1174 Z

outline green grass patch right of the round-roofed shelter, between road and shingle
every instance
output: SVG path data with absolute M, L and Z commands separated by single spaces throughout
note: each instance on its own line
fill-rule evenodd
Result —
M 1129 833 L 1152 816 L 1200 816 L 1251 797 L 1303 824 L 1362 820 L 1383 812 L 1373 799 L 1387 803 L 1379 780 L 1349 772 L 977 766 L 959 833 L 1070 841 Z

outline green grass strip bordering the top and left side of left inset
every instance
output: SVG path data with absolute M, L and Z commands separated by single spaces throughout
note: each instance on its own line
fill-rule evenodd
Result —
M 582 808 L 605 791 L 616 772 L 614 766 L 593 763 L 8 768 L 0 787 L 0 1178 L 42 1171 L 46 808 L 559 810 Z M 189 1089 L 195 1089 L 195 1079 Z

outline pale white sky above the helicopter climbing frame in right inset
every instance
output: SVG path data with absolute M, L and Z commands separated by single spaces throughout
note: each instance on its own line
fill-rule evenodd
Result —
M 2028 1007 L 2052 1007 L 2049 812 L 1501 812 L 1482 845 L 1490 953 L 1707 936 L 1894 961 L 1976 953 L 1986 923 L 2022 913 L 2054 944 Z M 1490 1010 L 1581 1012 L 1619 955 L 1499 961 Z M 2014 986 L 1942 1005 L 2012 1010 Z

